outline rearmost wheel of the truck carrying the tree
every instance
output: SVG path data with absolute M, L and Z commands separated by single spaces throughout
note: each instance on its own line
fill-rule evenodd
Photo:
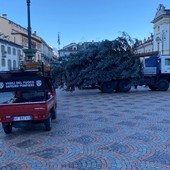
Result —
M 116 86 L 117 86 L 116 81 L 108 81 L 108 82 L 103 82 L 99 89 L 103 93 L 113 93 L 113 91 L 116 89 Z

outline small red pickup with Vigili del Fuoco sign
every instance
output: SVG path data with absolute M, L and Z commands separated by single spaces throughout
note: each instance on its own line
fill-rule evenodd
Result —
M 22 128 L 33 123 L 44 123 L 50 131 L 56 119 L 56 91 L 50 70 L 22 69 L 0 72 L 0 96 L 13 97 L 0 102 L 0 122 L 6 134 L 12 127 Z M 20 96 L 17 96 L 20 94 Z

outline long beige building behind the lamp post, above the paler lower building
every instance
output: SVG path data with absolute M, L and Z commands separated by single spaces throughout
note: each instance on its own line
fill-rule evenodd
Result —
M 10 21 L 5 14 L 0 17 L 0 26 L 0 38 L 22 46 L 23 50 L 28 49 L 28 32 L 26 28 Z M 37 51 L 34 61 L 43 60 L 44 56 L 48 58 L 46 61 L 53 58 L 53 53 L 51 52 L 53 49 L 41 37 L 37 36 L 36 32 L 31 35 L 31 48 Z M 44 49 L 49 51 L 44 54 Z M 25 59 L 23 54 L 22 60 Z

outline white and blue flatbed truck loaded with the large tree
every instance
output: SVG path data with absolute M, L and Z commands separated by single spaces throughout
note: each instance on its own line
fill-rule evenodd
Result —
M 116 78 L 100 84 L 104 93 L 128 92 L 132 86 L 146 85 L 151 90 L 167 91 L 170 83 L 170 56 L 154 56 L 143 58 L 141 76 L 126 79 Z

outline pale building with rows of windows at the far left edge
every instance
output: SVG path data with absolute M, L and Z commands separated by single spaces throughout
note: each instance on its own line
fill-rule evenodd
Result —
M 22 60 L 22 46 L 0 39 L 0 71 L 17 70 Z

